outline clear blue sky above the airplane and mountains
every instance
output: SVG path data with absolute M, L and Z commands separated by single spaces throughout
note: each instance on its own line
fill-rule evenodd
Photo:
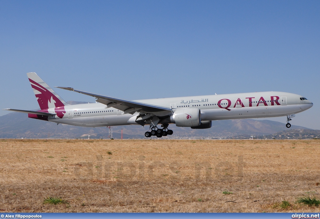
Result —
M 38 108 L 26 76 L 36 72 L 51 87 L 129 100 L 301 94 L 314 106 L 292 124 L 320 129 L 319 11 L 320 1 L 2 1 L 0 108 Z

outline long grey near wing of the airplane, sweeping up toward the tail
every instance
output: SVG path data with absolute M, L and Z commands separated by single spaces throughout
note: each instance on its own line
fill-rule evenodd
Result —
M 61 88 L 64 90 L 71 90 L 71 91 L 75 91 L 75 92 L 78 92 L 81 94 L 85 94 L 85 95 L 94 97 L 97 99 L 96 100 L 97 102 L 105 104 L 108 108 L 113 107 L 118 110 L 124 111 L 124 113 L 130 113 L 130 114 L 134 114 L 135 112 L 154 113 L 154 112 L 161 112 L 161 111 L 172 112 L 171 108 L 167 108 L 167 107 L 163 107 L 163 106 L 156 106 L 156 105 L 140 103 L 140 102 L 131 101 L 131 100 L 124 100 L 124 99 L 119 99 L 119 98 L 114 98 L 114 97 L 102 96 L 100 94 L 89 93 L 86 91 L 76 90 L 76 89 L 68 88 L 68 87 L 56 87 L 56 88 Z

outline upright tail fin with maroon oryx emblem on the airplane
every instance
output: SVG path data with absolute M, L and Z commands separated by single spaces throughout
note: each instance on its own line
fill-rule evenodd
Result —
M 56 108 L 68 105 L 52 90 L 36 73 L 27 73 L 33 92 L 36 95 L 40 109 Z

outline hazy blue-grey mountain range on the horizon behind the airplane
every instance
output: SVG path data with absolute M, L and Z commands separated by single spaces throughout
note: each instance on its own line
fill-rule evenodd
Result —
M 68 103 L 86 102 L 69 101 Z M 287 129 L 285 124 L 281 122 L 252 119 L 212 121 L 211 129 L 180 128 L 174 124 L 169 125 L 169 128 L 173 130 L 173 135 L 164 137 L 166 139 L 248 138 L 250 136 L 268 136 L 279 131 L 292 131 L 292 129 L 308 129 L 295 125 Z M 121 129 L 123 129 L 123 138 L 145 138 L 144 133 L 149 129 L 149 126 L 146 125 L 144 128 L 140 125 L 113 126 L 113 138 L 121 138 Z M 91 136 L 90 138 L 108 138 L 109 129 L 107 127 L 57 125 L 54 122 L 30 119 L 26 113 L 9 113 L 0 116 L 0 138 L 88 138 L 88 135 Z M 269 138 L 273 137 L 269 136 Z

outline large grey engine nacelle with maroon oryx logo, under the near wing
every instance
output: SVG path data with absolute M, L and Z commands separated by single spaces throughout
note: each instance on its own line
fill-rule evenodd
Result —
M 178 127 L 196 127 L 201 124 L 201 113 L 198 108 L 175 110 L 170 117 L 172 123 Z

